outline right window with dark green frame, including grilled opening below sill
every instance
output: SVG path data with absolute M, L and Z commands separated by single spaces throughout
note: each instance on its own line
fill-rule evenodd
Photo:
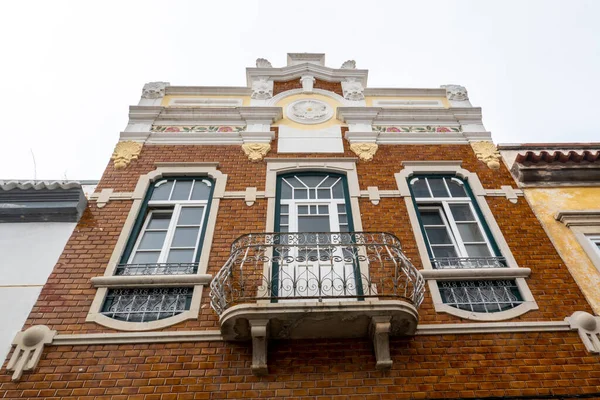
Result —
M 506 268 L 468 184 L 455 176 L 415 175 L 409 187 L 434 269 Z M 471 312 L 523 302 L 515 280 L 440 281 L 442 301 Z

